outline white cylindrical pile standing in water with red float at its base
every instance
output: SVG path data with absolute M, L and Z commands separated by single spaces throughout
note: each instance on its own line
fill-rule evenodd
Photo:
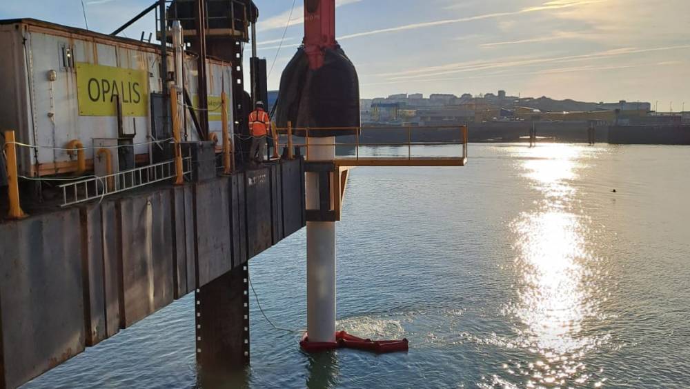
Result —
M 334 161 L 335 137 L 307 137 L 309 161 Z M 319 209 L 319 173 L 308 172 L 306 209 Z M 306 304 L 309 341 L 335 342 L 335 222 L 306 223 Z

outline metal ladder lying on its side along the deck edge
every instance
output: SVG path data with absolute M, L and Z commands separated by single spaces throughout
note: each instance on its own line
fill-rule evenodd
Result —
M 185 167 L 183 175 L 188 176 L 192 172 L 192 157 L 183 158 L 183 165 Z M 94 199 L 102 199 L 110 194 L 124 192 L 125 190 L 166 181 L 175 177 L 177 177 L 175 159 L 171 159 L 170 161 L 123 170 L 117 173 L 64 183 L 58 186 L 58 188 L 62 189 L 63 202 L 61 207 L 72 206 Z

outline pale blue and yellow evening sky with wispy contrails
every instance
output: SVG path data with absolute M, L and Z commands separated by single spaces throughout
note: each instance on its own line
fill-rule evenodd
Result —
M 111 32 L 151 0 L 85 0 Z M 269 89 L 302 41 L 304 0 L 255 0 Z M 336 0 L 337 39 L 362 97 L 420 92 L 649 101 L 690 110 L 689 0 Z M 290 10 L 292 16 L 290 17 Z M 0 19 L 84 26 L 80 0 L 4 0 Z M 288 23 L 289 17 L 289 23 Z M 126 36 L 152 30 L 152 17 Z M 282 39 L 282 37 L 285 39 Z M 282 43 L 281 43 L 282 41 Z M 246 57 L 250 46 L 246 46 Z

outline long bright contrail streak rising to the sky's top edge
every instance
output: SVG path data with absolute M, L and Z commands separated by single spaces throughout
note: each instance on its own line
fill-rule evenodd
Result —
M 542 6 L 522 8 L 521 10 L 512 11 L 512 12 L 493 12 L 493 13 L 489 13 L 489 14 L 475 15 L 472 17 L 461 17 L 461 18 L 457 18 L 457 19 L 444 19 L 444 20 L 437 20 L 437 21 L 427 21 L 427 22 L 423 22 L 423 23 L 412 23 L 412 24 L 406 24 L 404 26 L 396 26 L 396 27 L 391 27 L 391 28 L 380 28 L 378 30 L 356 32 L 355 34 L 349 34 L 349 35 L 345 35 L 343 37 L 339 37 L 339 39 L 351 39 L 351 38 L 358 38 L 358 37 L 367 37 L 369 35 L 383 34 L 386 32 L 399 32 L 399 31 L 406 31 L 406 30 L 416 30 L 417 28 L 444 26 L 446 24 L 464 23 L 466 21 L 476 21 L 476 20 L 484 20 L 484 19 L 499 19 L 502 17 L 509 17 L 509 16 L 514 16 L 517 14 L 524 14 L 524 13 L 529 13 L 529 12 L 541 12 L 541 11 L 546 11 L 546 10 L 558 10 L 558 9 L 562 9 L 562 8 L 584 6 L 586 4 L 591 4 L 591 3 L 601 3 L 602 1 L 607 1 L 607 0 L 555 0 L 555 1 L 547 1 L 546 3 L 543 3 Z

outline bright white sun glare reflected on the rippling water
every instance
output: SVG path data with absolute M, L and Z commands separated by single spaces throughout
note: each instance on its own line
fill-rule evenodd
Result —
M 518 343 L 535 359 L 507 361 L 503 368 L 513 379 L 494 377 L 495 385 L 506 386 L 506 379 L 526 387 L 602 385 L 581 362 L 601 341 L 582 335 L 583 322 L 598 309 L 596 288 L 587 277 L 593 261 L 586 248 L 589 230 L 573 209 L 577 190 L 571 183 L 582 169 L 583 152 L 580 146 L 554 144 L 511 153 L 536 200 L 533 210 L 511 223 L 517 301 L 506 314 L 517 318 Z

